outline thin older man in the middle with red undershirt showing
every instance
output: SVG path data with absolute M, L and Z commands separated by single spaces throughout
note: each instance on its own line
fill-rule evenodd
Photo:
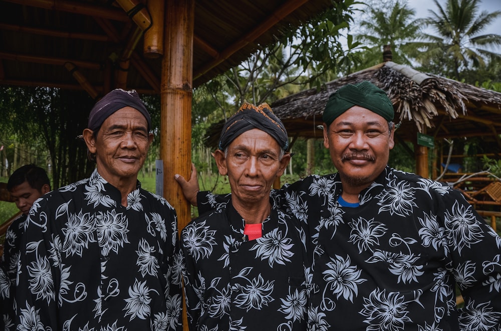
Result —
M 305 330 L 305 233 L 270 189 L 290 160 L 269 105 L 245 103 L 224 125 L 214 158 L 231 199 L 181 232 L 190 330 Z

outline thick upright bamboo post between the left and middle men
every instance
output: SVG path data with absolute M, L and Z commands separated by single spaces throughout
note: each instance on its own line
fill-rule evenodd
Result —
M 165 9 L 160 157 L 164 165 L 164 197 L 176 209 L 182 229 L 190 221 L 190 205 L 174 174 L 189 178 L 191 171 L 194 0 L 168 0 Z

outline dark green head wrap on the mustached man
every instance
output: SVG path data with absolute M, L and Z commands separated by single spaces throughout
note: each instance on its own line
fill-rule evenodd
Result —
M 388 95 L 370 81 L 347 84 L 332 93 L 325 105 L 322 119 L 330 125 L 339 115 L 354 105 L 369 109 L 386 120 L 393 120 L 394 111 Z

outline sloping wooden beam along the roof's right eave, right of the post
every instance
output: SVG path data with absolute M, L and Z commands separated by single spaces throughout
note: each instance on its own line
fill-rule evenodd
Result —
M 263 23 L 258 25 L 254 30 L 243 35 L 239 40 L 237 40 L 229 47 L 224 49 L 222 52 L 220 52 L 218 56 L 214 58 L 213 61 L 210 61 L 209 63 L 203 65 L 201 68 L 193 70 L 193 72 L 197 72 L 196 76 L 193 76 L 193 80 L 196 80 L 198 77 L 204 75 L 209 70 L 211 70 L 218 64 L 225 61 L 228 57 L 233 55 L 235 52 L 237 52 L 244 46 L 254 42 L 263 33 L 268 31 L 271 27 L 273 27 L 275 24 L 277 24 L 279 21 L 287 17 L 287 15 L 289 15 L 291 12 L 301 7 L 306 2 L 308 2 L 308 0 L 286 1 L 282 6 L 280 6 L 271 15 L 269 15 L 268 18 L 266 18 L 265 21 L 263 21 Z

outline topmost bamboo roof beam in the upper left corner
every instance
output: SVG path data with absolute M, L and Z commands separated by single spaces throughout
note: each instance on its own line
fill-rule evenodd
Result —
M 5 2 L 18 3 L 31 7 L 60 10 L 72 12 L 79 15 L 88 15 L 93 17 L 101 17 L 118 21 L 128 21 L 129 16 L 119 8 L 107 8 L 99 5 L 92 5 L 82 2 L 66 1 L 66 0 L 3 0 Z

